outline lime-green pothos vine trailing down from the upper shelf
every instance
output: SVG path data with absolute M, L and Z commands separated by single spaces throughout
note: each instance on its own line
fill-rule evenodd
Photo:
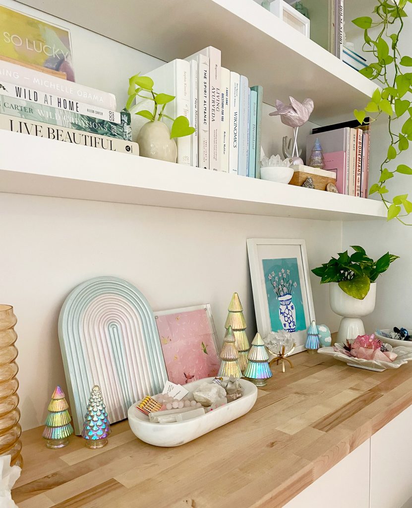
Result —
M 401 55 L 398 42 L 404 28 L 403 18 L 407 16 L 404 8 L 412 0 L 376 0 L 377 5 L 373 9 L 373 18 L 362 16 L 352 22 L 364 30 L 363 50 L 370 53 L 376 61 L 370 63 L 360 71 L 361 74 L 376 79 L 382 84 L 372 95 L 367 106 L 358 111 L 355 109 L 356 119 L 362 123 L 366 114 L 370 116 L 370 122 L 380 115 L 387 115 L 390 145 L 381 164 L 379 181 L 374 183 L 369 194 L 381 195 L 388 210 L 388 220 L 396 218 L 402 224 L 407 224 L 403 217 L 412 212 L 412 202 L 407 194 L 394 196 L 392 200 L 387 197 L 389 193 L 386 182 L 397 173 L 412 175 L 412 168 L 405 164 L 394 163 L 396 157 L 409 148 L 412 141 L 412 107 L 411 102 L 405 99 L 405 94 L 411 91 L 412 72 L 407 72 L 412 67 L 412 58 Z M 371 36 L 370 29 L 377 36 Z M 399 122 L 403 122 L 400 128 Z

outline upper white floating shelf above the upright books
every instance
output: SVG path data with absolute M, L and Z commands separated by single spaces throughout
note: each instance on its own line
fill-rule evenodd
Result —
M 224 67 L 263 85 L 265 103 L 312 98 L 315 123 L 363 108 L 376 88 L 253 0 L 20 1 L 166 61 L 220 48 Z

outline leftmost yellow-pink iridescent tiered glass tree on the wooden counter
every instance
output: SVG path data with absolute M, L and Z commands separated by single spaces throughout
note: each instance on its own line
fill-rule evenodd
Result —
M 43 437 L 46 439 L 48 448 L 63 448 L 68 444 L 68 436 L 73 434 L 71 425 L 72 418 L 68 413 L 68 404 L 62 389 L 56 386 L 52 400 L 47 410 L 49 415 L 46 420 L 46 427 Z

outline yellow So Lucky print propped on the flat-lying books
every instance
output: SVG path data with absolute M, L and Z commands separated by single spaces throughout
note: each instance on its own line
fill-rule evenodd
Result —
M 75 81 L 70 31 L 0 6 L 0 55 L 53 71 Z

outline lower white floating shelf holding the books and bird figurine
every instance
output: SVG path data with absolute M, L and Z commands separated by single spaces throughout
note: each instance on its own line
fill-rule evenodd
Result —
M 380 201 L 0 131 L 0 192 L 322 220 L 386 216 Z

